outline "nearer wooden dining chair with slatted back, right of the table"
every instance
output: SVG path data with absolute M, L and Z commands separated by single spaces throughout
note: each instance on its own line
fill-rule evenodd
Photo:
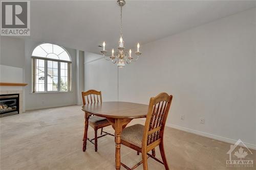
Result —
M 150 99 L 145 125 L 136 124 L 123 129 L 121 134 L 121 144 L 141 153 L 142 161 L 132 168 L 121 163 L 126 169 L 134 169 L 143 163 L 143 169 L 147 169 L 147 159 L 149 157 L 164 164 L 165 169 L 169 169 L 164 153 L 163 134 L 166 118 L 169 112 L 173 96 L 163 92 Z M 155 157 L 155 148 L 159 145 L 162 161 Z M 148 152 L 152 151 L 152 155 Z

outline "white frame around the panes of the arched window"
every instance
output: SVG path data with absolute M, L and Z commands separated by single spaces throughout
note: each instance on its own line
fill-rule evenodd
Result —
M 44 43 L 41 43 L 41 44 L 44 44 Z M 41 44 L 38 44 L 36 45 L 39 46 Z M 35 47 L 35 48 L 36 48 Z M 61 47 L 61 46 L 60 46 Z M 34 49 L 33 48 L 33 51 Z M 61 47 L 63 48 L 63 47 Z M 67 50 L 65 48 L 63 48 L 63 50 L 65 50 L 67 52 Z M 33 53 L 32 51 L 32 53 Z M 67 54 L 69 55 L 69 53 L 67 52 Z M 71 60 L 71 57 L 69 55 L 69 58 Z M 72 61 L 67 61 L 67 60 L 59 60 L 59 59 L 52 59 L 52 58 L 46 58 L 46 57 L 37 57 L 37 56 L 31 56 L 31 59 L 32 59 L 32 93 L 56 93 L 56 92 L 70 92 L 71 91 L 71 88 L 72 88 Z M 45 61 L 45 91 L 36 91 L 36 60 L 39 59 L 39 60 L 44 60 Z M 47 78 L 47 74 L 48 74 L 48 61 L 55 61 L 55 62 L 58 62 L 58 90 L 57 91 L 48 91 L 48 78 Z M 67 63 L 67 66 L 68 66 L 68 89 L 67 91 L 61 91 L 60 90 L 60 79 L 61 79 L 61 75 L 60 75 L 60 63 Z

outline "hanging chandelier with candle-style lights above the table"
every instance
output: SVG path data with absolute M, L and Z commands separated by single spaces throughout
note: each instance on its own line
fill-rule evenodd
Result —
M 122 34 L 122 6 L 125 5 L 124 0 L 118 0 L 117 4 L 120 6 L 120 40 L 119 40 L 119 46 L 117 47 L 118 52 L 114 51 L 114 48 L 112 48 L 112 55 L 106 56 L 106 53 L 108 51 L 105 50 L 105 41 L 103 42 L 103 50 L 100 52 L 103 54 L 103 57 L 105 60 L 111 60 L 113 64 L 117 63 L 118 67 L 124 67 L 125 62 L 127 64 L 130 64 L 132 61 L 137 61 L 139 59 L 139 56 L 141 55 L 140 52 L 140 44 L 137 44 L 137 52 L 135 52 L 136 57 L 132 57 L 132 50 L 130 49 L 129 52 L 125 50 L 124 47 L 124 41 L 123 41 L 123 34 Z

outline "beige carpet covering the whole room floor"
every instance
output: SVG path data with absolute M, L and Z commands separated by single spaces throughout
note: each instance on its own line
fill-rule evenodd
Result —
M 29 111 L 3 117 L 1 121 L 1 170 L 9 169 L 115 169 L 114 137 L 98 139 L 98 152 L 87 143 L 82 152 L 83 112 L 80 106 Z M 133 120 L 129 125 L 142 123 Z M 113 133 L 112 127 L 105 129 Z M 89 129 L 89 137 L 93 137 Z M 165 129 L 165 153 L 170 169 L 256 169 L 226 167 L 230 144 Z M 256 151 L 246 159 L 255 161 Z M 159 150 L 157 157 L 161 159 Z M 140 161 L 136 151 L 121 147 L 121 161 L 130 167 Z M 155 160 L 148 159 L 149 169 L 164 169 Z M 121 169 L 124 169 L 121 167 Z M 143 169 L 140 165 L 137 169 Z

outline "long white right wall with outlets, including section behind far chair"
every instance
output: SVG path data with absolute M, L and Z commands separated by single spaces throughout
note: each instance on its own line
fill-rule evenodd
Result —
M 119 101 L 148 104 L 165 91 L 174 95 L 168 126 L 256 147 L 255 8 L 141 49 L 138 61 L 119 69 Z M 116 95 L 116 65 L 92 61 L 99 57 L 84 65 L 86 89 Z

